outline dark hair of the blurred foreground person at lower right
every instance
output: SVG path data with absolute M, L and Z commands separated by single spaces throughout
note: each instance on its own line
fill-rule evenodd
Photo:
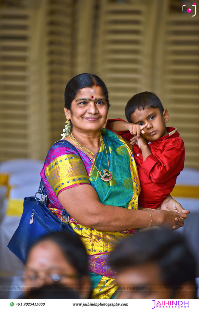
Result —
M 166 286 L 195 285 L 196 261 L 188 243 L 179 233 L 151 229 L 122 239 L 108 257 L 109 265 L 120 272 L 127 267 L 155 263 Z

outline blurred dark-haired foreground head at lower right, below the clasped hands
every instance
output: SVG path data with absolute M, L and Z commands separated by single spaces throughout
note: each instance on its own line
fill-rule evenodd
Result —
M 177 233 L 151 229 L 123 239 L 109 255 L 119 298 L 195 298 L 196 262 Z

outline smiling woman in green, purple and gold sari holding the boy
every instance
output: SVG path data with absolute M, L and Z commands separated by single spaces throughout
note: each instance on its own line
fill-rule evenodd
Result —
M 64 138 L 68 145 L 52 146 L 41 171 L 49 208 L 59 218 L 67 210 L 87 249 L 94 298 L 115 297 L 114 273 L 106 261 L 121 238 L 140 227 L 175 229 L 186 218 L 172 211 L 137 210 L 140 182 L 132 146 L 102 129 L 108 108 L 108 91 L 98 76 L 72 78 L 65 89 L 64 111 L 72 126 Z

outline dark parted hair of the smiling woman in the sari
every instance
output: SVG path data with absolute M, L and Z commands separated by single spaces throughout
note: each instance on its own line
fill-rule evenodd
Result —
M 75 99 L 77 91 L 85 87 L 99 86 L 102 88 L 102 93 L 106 98 L 108 108 L 110 107 L 108 100 L 108 90 L 103 80 L 99 76 L 89 73 L 82 73 L 71 78 L 66 85 L 64 91 L 64 106 L 71 109 L 71 103 Z

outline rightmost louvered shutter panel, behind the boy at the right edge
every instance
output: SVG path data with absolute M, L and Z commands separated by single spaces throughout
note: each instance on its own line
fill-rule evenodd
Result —
M 156 42 L 157 94 L 185 142 L 185 165 L 199 168 L 199 15 L 168 14 Z M 163 22 L 162 19 L 162 22 Z M 156 90 L 155 90 L 156 91 Z

